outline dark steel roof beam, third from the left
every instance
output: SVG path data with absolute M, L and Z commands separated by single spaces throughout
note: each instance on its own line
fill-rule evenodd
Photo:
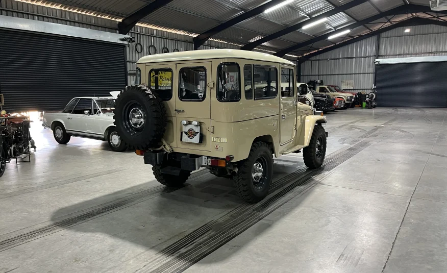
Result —
M 321 14 L 319 14 L 319 15 L 317 15 L 315 17 L 309 18 L 309 19 L 307 19 L 305 21 L 301 21 L 299 23 L 296 23 L 293 26 L 290 26 L 290 27 L 288 27 L 288 28 L 286 28 L 284 30 L 275 32 L 273 34 L 265 36 L 264 38 L 261 38 L 259 40 L 254 41 L 254 42 L 246 44 L 246 45 L 242 46 L 241 49 L 243 49 L 243 50 L 253 50 L 258 45 L 261 45 L 261 44 L 263 44 L 265 42 L 271 41 L 273 39 L 276 39 L 278 37 L 281 37 L 283 35 L 286 35 L 288 33 L 293 32 L 293 31 L 299 30 L 299 29 L 303 28 L 304 26 L 306 26 L 306 24 L 309 24 L 311 22 L 317 21 L 317 20 L 325 18 L 325 17 L 329 17 L 329 16 L 332 16 L 332 15 L 335 15 L 335 14 L 337 14 L 339 12 L 343 12 L 345 10 L 354 8 L 354 7 L 356 7 L 356 6 L 360 5 L 360 4 L 363 4 L 363 3 L 367 2 L 367 1 L 368 0 L 354 0 L 354 1 L 351 1 L 349 3 L 346 3 L 344 5 L 336 7 L 334 9 L 330 10 L 330 11 L 321 13 Z

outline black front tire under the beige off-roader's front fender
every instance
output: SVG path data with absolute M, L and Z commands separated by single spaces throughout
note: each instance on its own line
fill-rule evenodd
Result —
M 317 156 L 317 141 L 320 139 L 320 144 L 322 144 L 322 156 Z M 310 139 L 309 146 L 303 149 L 304 164 L 309 169 L 316 169 L 321 167 L 323 161 L 325 161 L 326 156 L 326 132 L 321 125 L 316 125 L 312 132 L 312 137 Z

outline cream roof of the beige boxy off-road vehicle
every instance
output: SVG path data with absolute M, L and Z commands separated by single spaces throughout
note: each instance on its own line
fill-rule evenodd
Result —
M 275 63 L 283 63 L 295 65 L 291 61 L 273 56 L 266 53 L 245 51 L 240 49 L 204 49 L 196 51 L 182 51 L 155 54 L 141 57 L 137 63 L 155 63 L 155 62 L 172 62 L 172 61 L 188 61 L 188 60 L 206 60 L 206 59 L 225 59 L 240 58 L 258 61 L 267 61 Z

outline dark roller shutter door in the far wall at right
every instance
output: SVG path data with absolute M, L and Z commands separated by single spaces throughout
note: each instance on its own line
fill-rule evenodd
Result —
M 447 62 L 377 66 L 377 105 L 447 107 Z

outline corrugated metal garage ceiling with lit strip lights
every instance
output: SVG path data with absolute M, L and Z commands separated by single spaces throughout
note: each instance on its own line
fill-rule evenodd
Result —
M 15 0 L 83 12 L 151 28 L 194 36 L 194 45 L 207 39 L 263 49 L 283 57 L 302 57 L 349 40 L 369 37 L 394 24 L 447 26 L 447 12 L 432 12 L 420 0 L 295 0 L 271 12 L 281 0 Z M 160 4 L 161 2 L 161 4 Z M 151 10 L 151 7 L 155 7 Z M 327 18 L 303 29 L 308 23 Z M 137 19 L 137 20 L 136 20 Z M 401 23 L 402 25 L 402 23 Z M 343 30 L 348 34 L 329 39 Z M 197 46 L 198 47 L 198 46 Z

